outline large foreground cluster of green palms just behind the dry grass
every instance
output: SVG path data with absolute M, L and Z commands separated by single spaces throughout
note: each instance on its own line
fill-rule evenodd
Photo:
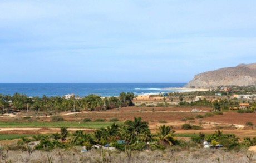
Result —
M 135 117 L 134 121 L 128 120 L 123 125 L 112 124 L 106 128 L 100 128 L 92 133 L 77 130 L 72 134 L 66 127 L 61 127 L 61 132 L 52 135 L 42 135 L 38 150 L 51 150 L 56 147 L 109 145 L 120 150 L 145 150 L 149 148 L 164 148 L 178 144 L 171 126 L 162 125 L 155 134 L 149 130 L 148 122 Z

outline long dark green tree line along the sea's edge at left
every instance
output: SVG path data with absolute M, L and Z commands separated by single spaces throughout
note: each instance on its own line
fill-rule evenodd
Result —
M 101 97 L 99 95 L 88 95 L 82 98 L 64 98 L 60 96 L 28 97 L 27 95 L 14 93 L 11 95 L 0 94 L 0 108 L 16 108 L 18 110 L 33 111 L 81 111 L 81 110 L 107 110 L 132 106 L 134 93 L 121 92 L 118 97 Z

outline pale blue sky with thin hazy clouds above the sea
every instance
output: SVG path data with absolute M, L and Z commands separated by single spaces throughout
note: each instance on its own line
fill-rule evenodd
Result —
M 256 62 L 256 1 L 0 1 L 0 83 L 188 82 Z

